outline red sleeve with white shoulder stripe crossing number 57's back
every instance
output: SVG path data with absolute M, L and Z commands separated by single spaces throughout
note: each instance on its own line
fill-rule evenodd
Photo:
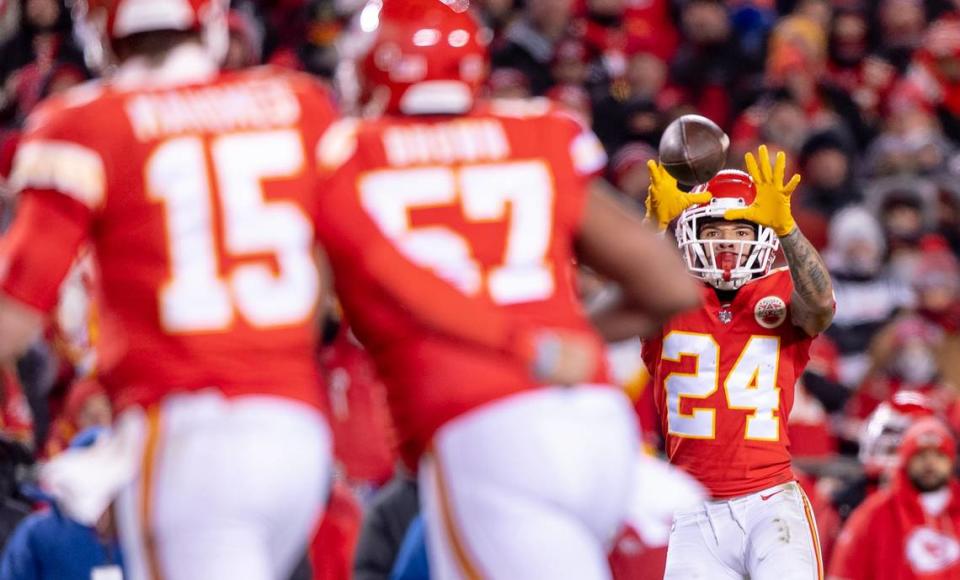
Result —
M 356 189 L 360 153 L 352 123 L 334 124 L 318 152 L 326 175 L 317 214 L 317 232 L 324 249 L 362 264 L 389 297 L 433 331 L 524 361 L 532 359 L 532 330 L 409 260 L 367 215 Z M 471 312 L 475 323 L 463 324 L 464 312 Z

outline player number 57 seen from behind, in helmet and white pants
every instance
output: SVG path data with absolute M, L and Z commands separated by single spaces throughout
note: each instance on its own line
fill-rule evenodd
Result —
M 358 78 L 373 116 L 322 140 L 332 184 L 321 237 L 387 384 L 401 452 L 419 468 L 431 576 L 606 578 L 639 441 L 577 302 L 574 256 L 655 319 L 698 304 L 699 291 L 675 249 L 591 185 L 605 156 L 589 130 L 547 101 L 477 98 L 488 32 L 457 8 L 384 0 L 360 13 Z M 406 256 L 399 279 L 428 268 L 478 305 L 589 332 L 596 372 L 543 386 L 495 344 L 437 336 L 376 290 L 361 260 L 377 238 Z M 464 328 L 486 316 L 441 305 L 436 315 Z

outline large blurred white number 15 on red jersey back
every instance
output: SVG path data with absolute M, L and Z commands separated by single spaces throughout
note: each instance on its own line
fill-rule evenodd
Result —
M 157 147 L 146 180 L 149 197 L 164 207 L 170 279 L 159 298 L 168 332 L 226 330 L 237 313 L 257 328 L 309 319 L 320 284 L 313 224 L 292 200 L 268 201 L 263 191 L 266 182 L 304 170 L 303 142 L 293 130 L 209 143 L 187 136 Z M 228 269 L 225 258 L 245 260 Z

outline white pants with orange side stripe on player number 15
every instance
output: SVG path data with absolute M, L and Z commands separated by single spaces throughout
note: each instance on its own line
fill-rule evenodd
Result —
M 117 500 L 132 580 L 285 580 L 329 493 L 331 437 L 319 411 L 217 392 L 131 409 L 117 431 L 142 442 Z

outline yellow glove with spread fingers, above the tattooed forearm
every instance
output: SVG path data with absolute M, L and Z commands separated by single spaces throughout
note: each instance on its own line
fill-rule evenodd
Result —
M 783 184 L 783 172 L 787 165 L 787 158 L 783 152 L 777 153 L 777 160 L 770 167 L 770 153 L 766 145 L 761 145 L 757 152 L 760 158 L 759 166 L 752 153 L 747 153 L 744 160 L 747 163 L 747 173 L 753 178 L 757 186 L 757 198 L 749 207 L 743 209 L 728 209 L 723 218 L 727 220 L 747 220 L 762 226 L 767 226 L 781 238 L 797 227 L 790 213 L 790 196 L 800 183 L 800 175 L 794 174 L 790 182 Z

